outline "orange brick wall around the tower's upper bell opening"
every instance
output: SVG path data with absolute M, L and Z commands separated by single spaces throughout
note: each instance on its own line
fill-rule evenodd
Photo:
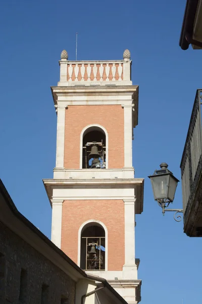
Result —
M 109 168 L 124 167 L 124 109 L 121 105 L 70 105 L 65 117 L 64 166 L 79 169 L 80 134 L 84 127 L 98 124 L 109 136 Z

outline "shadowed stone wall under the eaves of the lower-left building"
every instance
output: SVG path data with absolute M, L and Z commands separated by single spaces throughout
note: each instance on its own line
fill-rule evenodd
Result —
M 75 282 L 0 222 L 1 304 L 19 303 L 21 269 L 27 273 L 24 303 L 41 304 L 42 296 L 48 304 L 75 303 Z

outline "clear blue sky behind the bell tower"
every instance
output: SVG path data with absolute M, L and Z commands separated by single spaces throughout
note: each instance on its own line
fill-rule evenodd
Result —
M 0 18 L 1 178 L 14 203 L 48 237 L 51 207 L 42 178 L 52 178 L 56 113 L 50 86 L 59 81 L 60 53 L 78 60 L 122 59 L 131 51 L 139 85 L 134 130 L 135 177 L 145 178 L 144 211 L 136 216 L 141 304 L 201 303 L 201 239 L 164 217 L 147 178 L 161 162 L 180 179 L 180 161 L 202 51 L 178 45 L 185 0 L 2 1 Z M 179 183 L 173 208 L 182 208 Z

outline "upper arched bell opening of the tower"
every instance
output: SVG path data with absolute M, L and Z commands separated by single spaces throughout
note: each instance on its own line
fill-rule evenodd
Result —
M 89 127 L 83 133 L 82 168 L 106 168 L 106 134 L 99 127 Z

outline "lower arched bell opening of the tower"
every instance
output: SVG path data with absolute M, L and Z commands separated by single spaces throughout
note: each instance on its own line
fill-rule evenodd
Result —
M 98 223 L 87 224 L 81 232 L 80 267 L 83 270 L 105 270 L 105 230 Z

